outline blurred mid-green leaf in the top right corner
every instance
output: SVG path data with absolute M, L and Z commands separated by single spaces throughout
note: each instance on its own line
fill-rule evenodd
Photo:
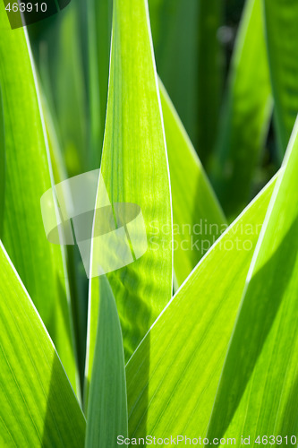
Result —
M 282 159 L 298 111 L 298 3 L 263 1 L 275 124 Z

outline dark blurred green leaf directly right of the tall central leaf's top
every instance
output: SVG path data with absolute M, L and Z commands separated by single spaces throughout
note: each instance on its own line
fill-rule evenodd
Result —
M 158 73 L 205 163 L 213 150 L 220 105 L 218 0 L 150 0 Z

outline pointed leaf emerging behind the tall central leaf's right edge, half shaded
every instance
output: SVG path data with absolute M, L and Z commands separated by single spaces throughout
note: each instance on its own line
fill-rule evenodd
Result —
M 162 82 L 159 91 L 171 173 L 174 269 L 180 286 L 225 228 L 226 218 Z

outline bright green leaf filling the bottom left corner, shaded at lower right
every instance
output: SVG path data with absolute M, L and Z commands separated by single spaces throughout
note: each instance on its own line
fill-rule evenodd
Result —
M 81 448 L 80 405 L 1 242 L 0 326 L 1 446 Z

